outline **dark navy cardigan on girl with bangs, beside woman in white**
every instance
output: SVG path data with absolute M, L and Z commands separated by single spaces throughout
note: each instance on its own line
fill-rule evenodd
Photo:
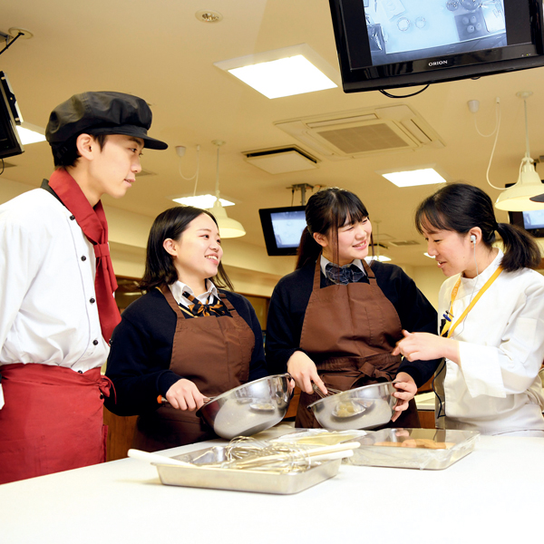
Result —
M 299 349 L 302 325 L 306 307 L 314 283 L 316 263 L 309 263 L 295 272 L 282 277 L 270 299 L 267 318 L 267 364 L 271 374 L 286 372 L 287 361 Z M 413 279 L 401 267 L 373 261 L 372 269 L 378 287 L 395 307 L 403 329 L 409 332 L 436 334 L 436 310 L 415 287 Z M 369 283 L 366 275 L 362 282 Z M 321 287 L 326 279 L 321 274 Z M 326 317 L 324 316 L 324 319 Z M 413 377 L 418 385 L 423 385 L 434 373 L 440 359 L 432 361 L 403 360 L 399 372 Z

